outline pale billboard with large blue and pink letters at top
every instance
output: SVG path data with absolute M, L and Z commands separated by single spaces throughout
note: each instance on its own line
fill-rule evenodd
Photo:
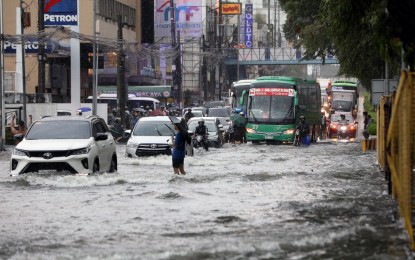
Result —
M 174 1 L 176 30 L 180 38 L 201 37 L 202 0 Z M 154 4 L 154 37 L 171 37 L 170 0 L 156 0 Z

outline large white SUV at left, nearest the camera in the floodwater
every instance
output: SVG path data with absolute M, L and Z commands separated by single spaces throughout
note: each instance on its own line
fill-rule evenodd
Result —
M 10 175 L 44 170 L 91 174 L 117 170 L 114 138 L 98 116 L 53 116 L 34 122 L 16 145 Z

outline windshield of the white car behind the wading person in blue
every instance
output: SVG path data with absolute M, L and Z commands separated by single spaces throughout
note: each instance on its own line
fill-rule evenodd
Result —
M 171 121 L 138 121 L 133 134 L 140 136 L 171 136 L 175 132 Z

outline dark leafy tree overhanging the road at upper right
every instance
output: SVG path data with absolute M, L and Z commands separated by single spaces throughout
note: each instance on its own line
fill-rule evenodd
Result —
M 336 55 L 339 73 L 358 78 L 366 87 L 371 79 L 384 77 L 385 60 L 390 75 L 399 71 L 400 55 L 393 41 L 396 30 L 392 28 L 401 23 L 395 21 L 393 25 L 390 21 L 391 16 L 385 10 L 392 7 L 387 0 L 280 0 L 280 3 L 287 13 L 285 36 L 295 47 L 306 49 L 304 59 L 319 57 L 324 63 L 327 54 Z M 396 5 L 393 10 L 399 9 Z M 408 13 L 413 15 L 413 11 Z M 405 16 L 409 19 L 409 15 Z M 413 37 L 408 38 L 413 46 Z

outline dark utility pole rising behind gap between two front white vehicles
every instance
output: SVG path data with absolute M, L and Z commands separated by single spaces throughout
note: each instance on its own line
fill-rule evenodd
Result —
M 118 55 L 117 55 L 117 105 L 120 112 L 122 125 L 125 127 L 125 105 L 127 103 L 127 90 L 125 86 L 125 55 L 123 50 L 123 22 L 121 14 L 118 14 Z

